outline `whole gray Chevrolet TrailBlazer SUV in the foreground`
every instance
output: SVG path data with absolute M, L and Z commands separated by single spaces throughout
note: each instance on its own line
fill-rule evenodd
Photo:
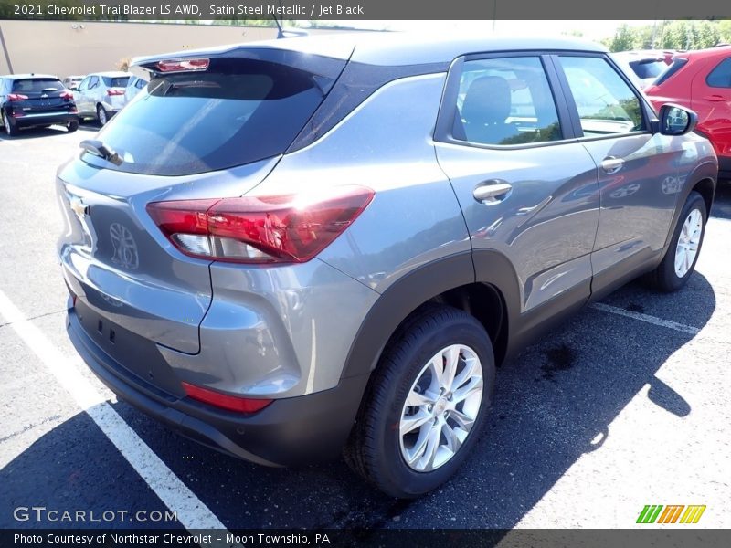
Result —
M 630 279 L 691 276 L 695 115 L 566 40 L 298 37 L 136 59 L 58 170 L 68 331 L 112 391 L 239 458 L 344 453 L 414 497 L 495 366 Z

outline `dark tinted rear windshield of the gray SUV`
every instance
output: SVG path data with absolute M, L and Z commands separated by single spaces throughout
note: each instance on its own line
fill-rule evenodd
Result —
M 260 59 L 211 59 L 206 72 L 153 74 L 146 89 L 99 134 L 122 159 L 88 163 L 137 174 L 227 169 L 284 153 L 317 110 L 344 61 L 298 62 L 318 73 Z M 119 162 L 118 162 L 119 163 Z

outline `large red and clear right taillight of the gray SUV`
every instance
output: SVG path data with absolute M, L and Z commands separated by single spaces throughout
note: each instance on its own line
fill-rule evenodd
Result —
M 147 212 L 186 255 L 239 263 L 305 262 L 363 212 L 374 192 L 337 186 L 323 194 L 153 202 Z

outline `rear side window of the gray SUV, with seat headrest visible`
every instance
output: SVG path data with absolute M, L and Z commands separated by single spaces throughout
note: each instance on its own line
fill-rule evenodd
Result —
M 452 137 L 477 144 L 525 144 L 563 138 L 546 71 L 538 57 L 464 63 Z

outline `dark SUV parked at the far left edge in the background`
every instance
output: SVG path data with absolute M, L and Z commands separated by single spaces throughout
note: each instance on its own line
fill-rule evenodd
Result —
M 73 94 L 55 76 L 11 74 L 0 77 L 0 123 L 8 136 L 52 124 L 75 132 L 79 115 Z

